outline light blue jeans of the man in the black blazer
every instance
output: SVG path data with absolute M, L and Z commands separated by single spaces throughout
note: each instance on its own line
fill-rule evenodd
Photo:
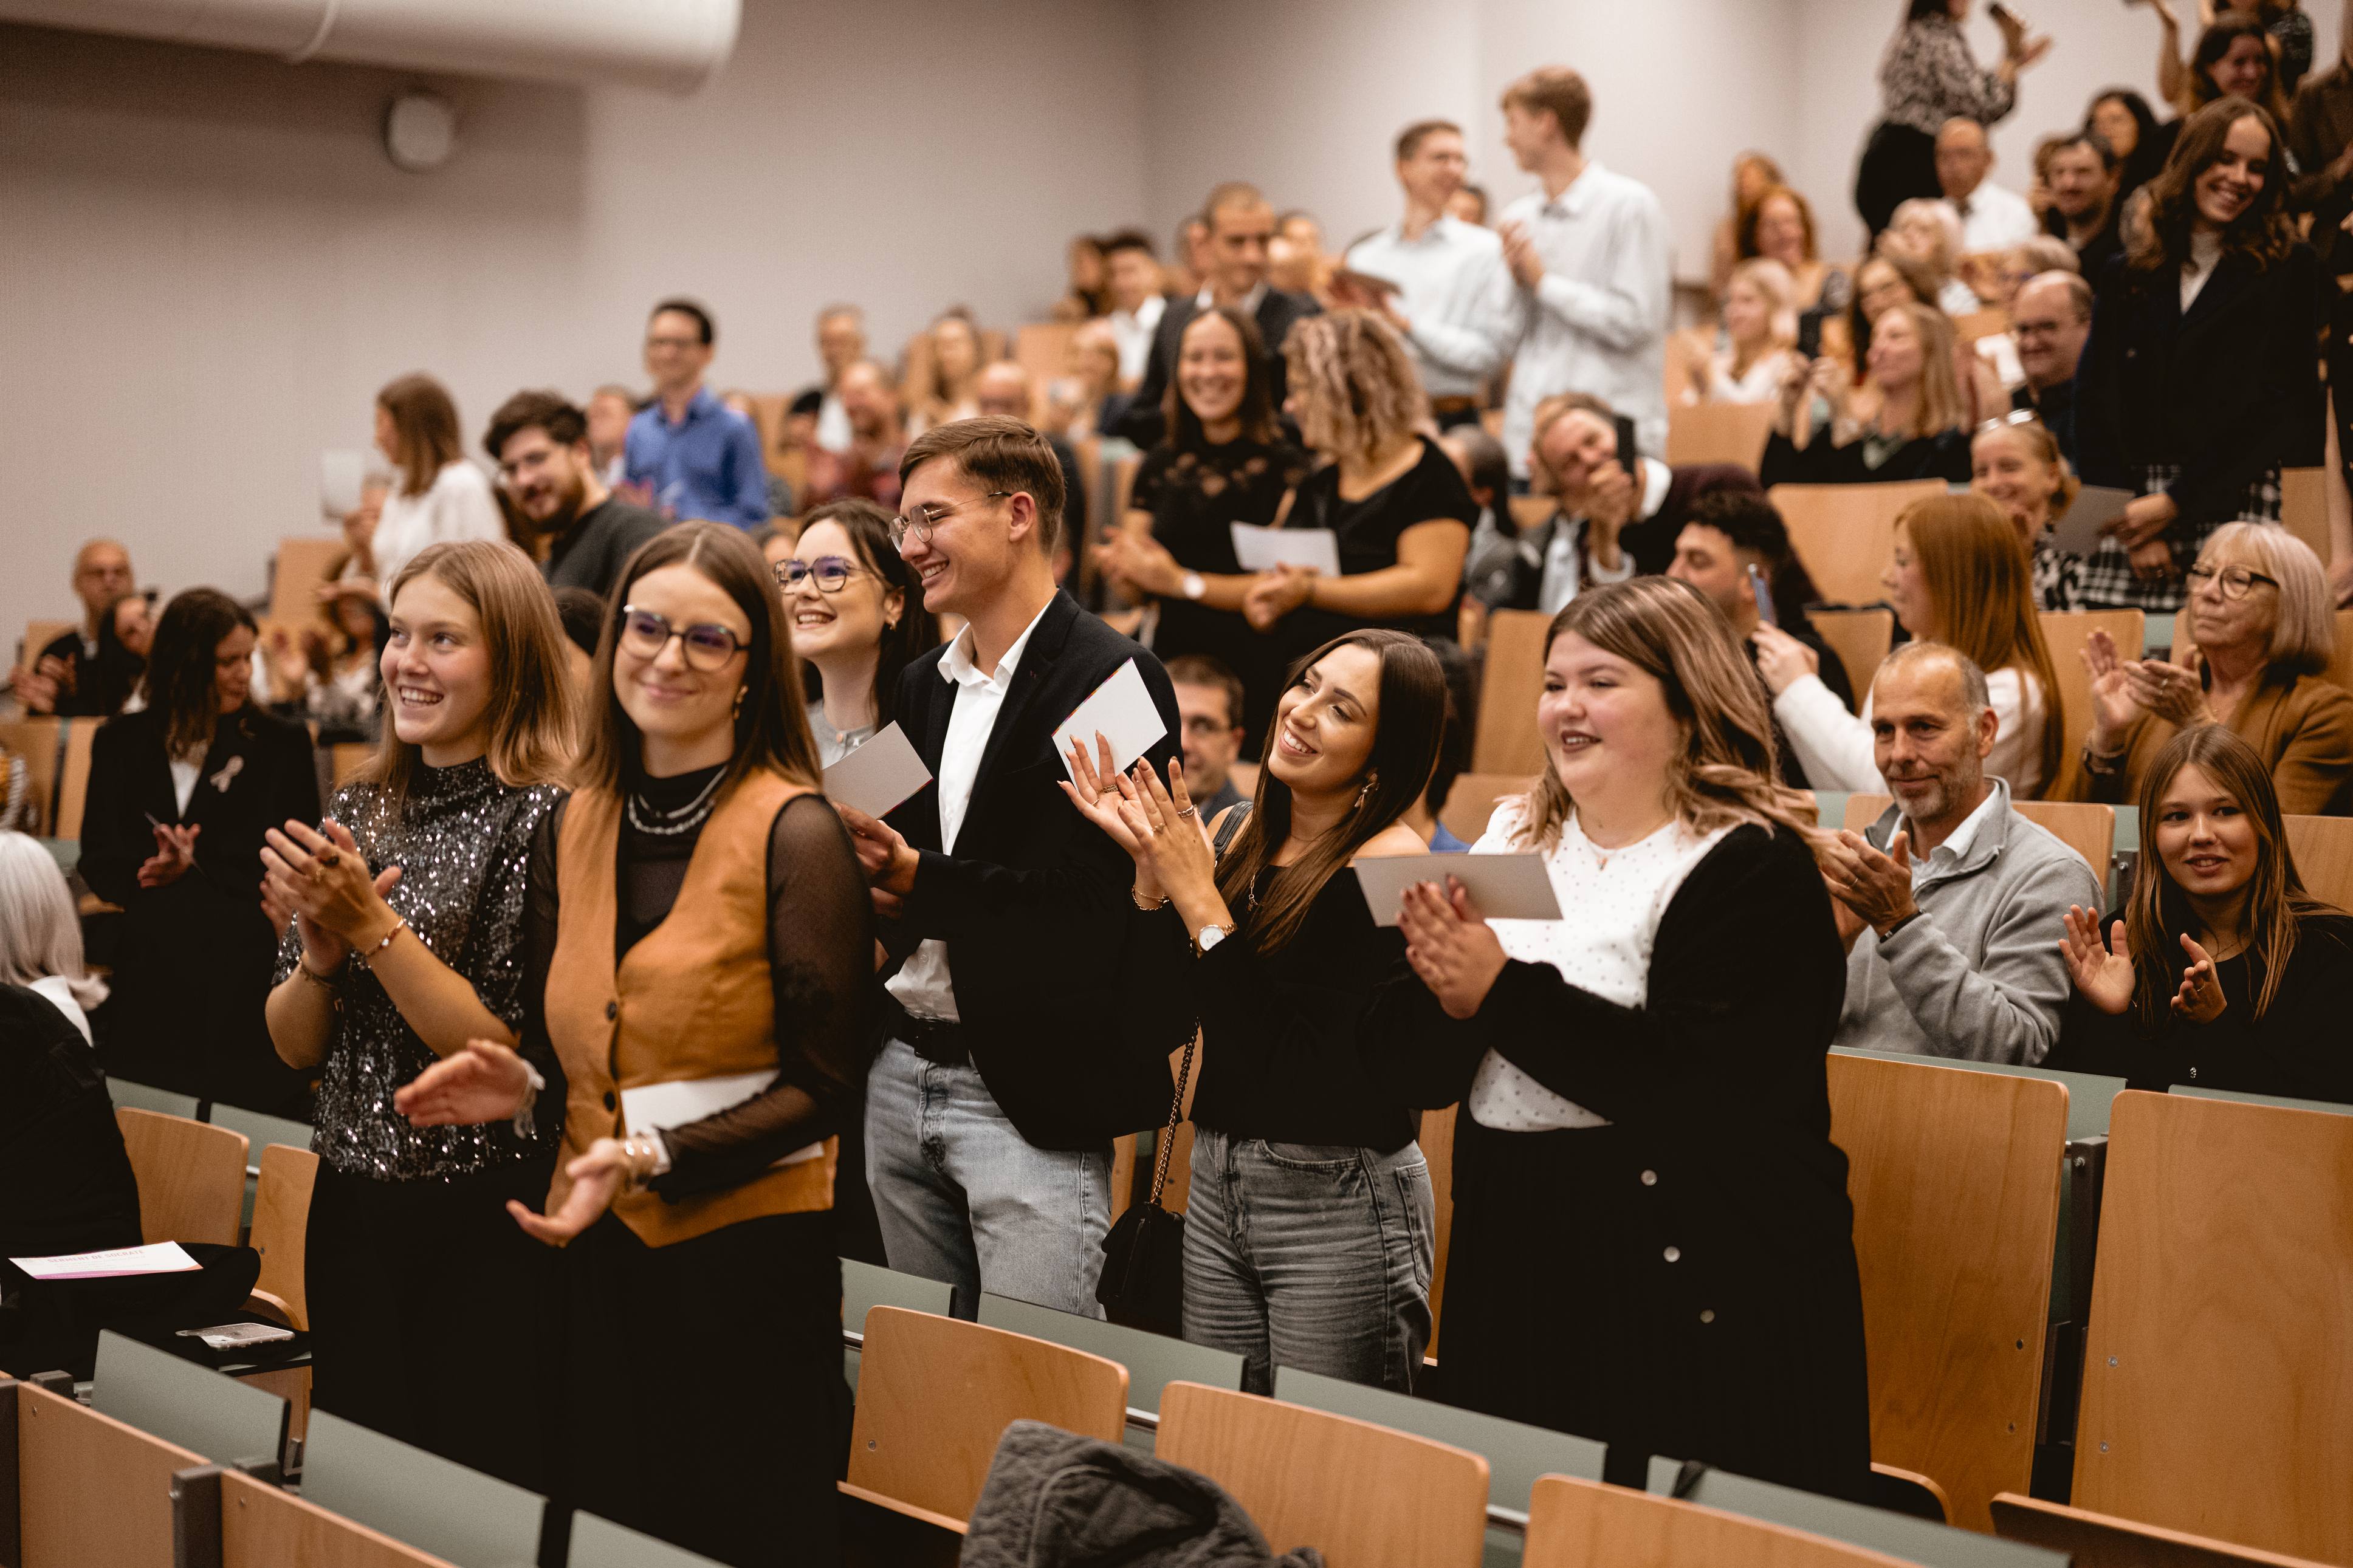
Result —
M 889 1267 L 955 1286 L 958 1316 L 981 1291 L 1104 1316 L 1111 1145 L 1031 1145 L 974 1067 L 882 1046 L 866 1074 L 866 1182 Z

